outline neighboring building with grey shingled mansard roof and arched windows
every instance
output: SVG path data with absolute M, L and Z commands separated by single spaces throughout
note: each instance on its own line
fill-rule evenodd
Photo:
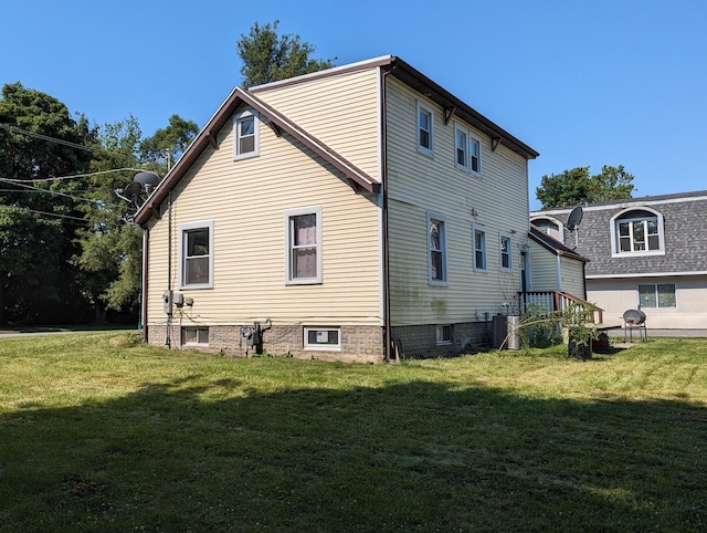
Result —
M 569 213 L 532 212 L 531 222 L 590 260 L 587 300 L 605 323 L 641 309 L 648 328 L 707 328 L 707 191 L 589 205 L 576 234 Z

